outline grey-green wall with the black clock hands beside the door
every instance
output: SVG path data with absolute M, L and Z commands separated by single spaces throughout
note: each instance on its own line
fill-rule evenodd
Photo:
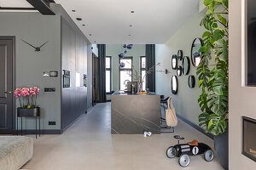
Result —
M 38 86 L 41 92 L 38 105 L 41 107 L 41 128 L 61 128 L 61 76 L 43 77 L 44 71 L 58 71 L 61 74 L 61 18 L 59 15 L 45 16 L 38 12 L 1 13 L 0 36 L 15 36 L 16 88 Z M 47 42 L 40 52 L 28 46 L 40 46 Z M 1 62 L 1 61 L 0 61 Z M 53 93 L 44 93 L 44 88 L 55 88 Z M 20 106 L 18 100 L 17 106 Z M 49 126 L 48 122 L 56 122 Z M 19 122 L 20 124 L 20 122 Z M 23 121 L 24 129 L 33 129 L 33 118 Z

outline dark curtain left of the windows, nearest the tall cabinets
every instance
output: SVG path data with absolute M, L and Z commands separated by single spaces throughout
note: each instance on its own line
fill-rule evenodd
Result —
M 98 44 L 98 50 L 99 50 L 99 71 L 100 71 L 100 88 L 99 88 L 99 94 L 100 94 L 100 103 L 104 103 L 107 101 L 107 95 L 106 95 L 106 65 L 105 65 L 105 59 L 106 59 L 106 44 Z

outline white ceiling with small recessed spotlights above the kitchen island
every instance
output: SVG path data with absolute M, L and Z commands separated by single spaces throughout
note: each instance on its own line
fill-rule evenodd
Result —
M 55 3 L 61 3 L 90 42 L 106 44 L 165 43 L 199 8 L 198 0 L 55 0 Z M 131 10 L 135 13 L 131 14 Z M 83 20 L 75 20 L 77 17 Z

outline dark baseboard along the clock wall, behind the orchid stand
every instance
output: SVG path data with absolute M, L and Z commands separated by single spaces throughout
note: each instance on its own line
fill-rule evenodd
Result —
M 21 130 L 18 130 L 18 133 L 21 134 Z M 38 130 L 39 133 L 39 130 Z M 62 130 L 61 129 L 41 129 L 40 131 L 41 134 L 61 134 Z M 0 134 L 17 134 L 16 130 L 10 130 L 8 132 L 1 132 Z M 36 134 L 35 129 L 23 129 L 22 134 Z

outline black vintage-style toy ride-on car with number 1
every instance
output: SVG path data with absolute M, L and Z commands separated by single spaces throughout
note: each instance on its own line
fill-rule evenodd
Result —
M 211 147 L 207 144 L 198 143 L 197 140 L 193 140 L 188 144 L 179 144 L 179 140 L 184 138 L 179 135 L 175 135 L 174 138 L 178 139 L 178 142 L 166 150 L 166 156 L 169 158 L 179 157 L 178 163 L 181 167 L 187 167 L 189 165 L 189 156 L 204 154 L 206 161 L 212 161 L 214 154 Z

